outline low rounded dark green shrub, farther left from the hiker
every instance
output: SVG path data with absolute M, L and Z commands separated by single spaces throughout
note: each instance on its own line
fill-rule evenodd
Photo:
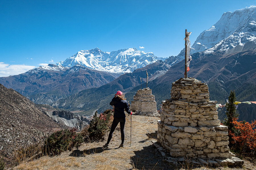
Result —
M 83 137 L 76 129 L 65 129 L 52 133 L 44 143 L 45 154 L 60 154 L 63 151 L 78 148 L 83 143 Z

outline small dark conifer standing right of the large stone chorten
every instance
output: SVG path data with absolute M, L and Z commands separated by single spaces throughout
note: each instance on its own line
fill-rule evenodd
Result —
M 228 102 L 226 103 L 226 115 L 227 118 L 224 120 L 223 124 L 228 126 L 228 129 L 235 133 L 235 128 L 233 122 L 233 118 L 238 118 L 239 114 L 236 112 L 237 106 L 234 104 L 236 101 L 236 94 L 235 91 L 231 90 L 230 95 L 228 97 Z

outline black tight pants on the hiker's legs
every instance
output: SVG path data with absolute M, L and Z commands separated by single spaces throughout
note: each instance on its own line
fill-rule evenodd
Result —
M 121 131 L 121 140 L 122 140 L 122 143 L 123 144 L 123 141 L 124 141 L 124 126 L 125 126 L 125 117 L 124 118 L 114 118 L 113 122 L 112 122 L 112 126 L 111 126 L 111 129 L 110 129 L 110 132 L 109 132 L 109 135 L 108 135 L 108 142 L 107 144 L 109 144 L 112 136 L 113 136 L 113 133 L 115 131 L 115 128 L 117 127 L 118 123 L 120 122 L 120 131 Z

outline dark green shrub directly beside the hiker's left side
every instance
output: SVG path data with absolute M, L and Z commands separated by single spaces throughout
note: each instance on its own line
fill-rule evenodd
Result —
M 91 140 L 103 141 L 106 132 L 109 131 L 109 124 L 111 123 L 111 110 L 108 109 L 104 113 L 101 113 L 99 117 L 97 117 L 97 111 L 95 112 L 92 121 L 90 122 L 90 126 L 88 128 L 88 136 Z M 83 134 L 86 134 L 85 130 L 83 130 Z

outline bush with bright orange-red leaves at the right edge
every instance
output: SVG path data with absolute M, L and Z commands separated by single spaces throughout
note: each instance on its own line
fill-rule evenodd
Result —
M 229 136 L 233 139 L 231 143 L 235 149 L 239 149 L 242 152 L 246 153 L 255 153 L 256 151 L 256 120 L 249 122 L 237 121 L 237 118 L 234 118 L 232 123 L 234 128 L 238 130 L 238 134 L 228 131 Z

